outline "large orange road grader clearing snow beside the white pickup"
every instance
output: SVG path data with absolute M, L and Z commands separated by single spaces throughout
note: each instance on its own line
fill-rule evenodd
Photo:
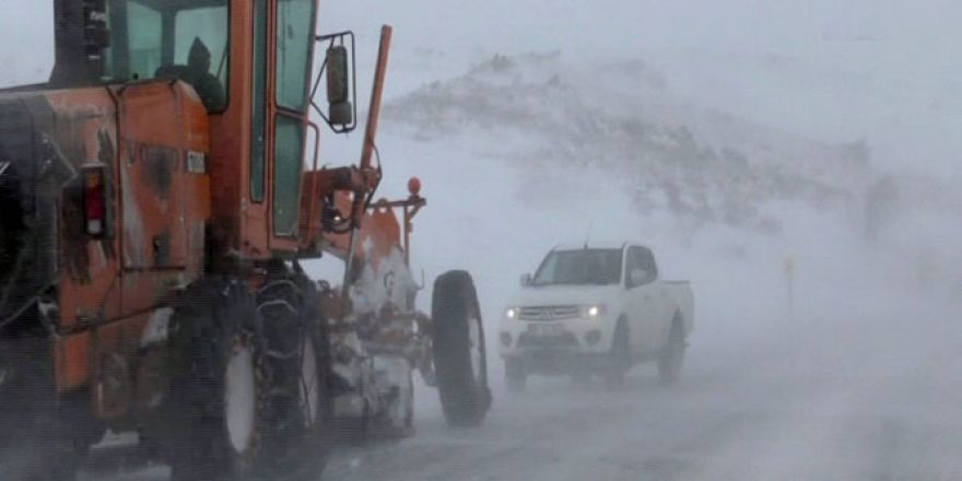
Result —
M 419 312 L 421 184 L 376 197 L 389 26 L 360 160 L 330 167 L 354 35 L 316 34 L 317 0 L 52 12 L 49 81 L 0 91 L 0 478 L 72 479 L 109 430 L 178 480 L 317 479 L 338 426 L 411 432 L 414 371 L 449 424 L 483 420 L 471 277 Z M 308 278 L 320 256 L 343 278 Z

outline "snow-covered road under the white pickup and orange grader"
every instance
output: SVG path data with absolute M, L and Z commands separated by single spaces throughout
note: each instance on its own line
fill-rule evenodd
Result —
M 508 396 L 498 383 L 486 422 L 473 430 L 448 429 L 424 388 L 413 437 L 340 446 L 322 479 L 960 479 L 962 324 L 949 306 L 912 304 L 771 319 L 741 339 L 695 331 L 672 388 L 648 366 L 619 392 L 536 378 Z

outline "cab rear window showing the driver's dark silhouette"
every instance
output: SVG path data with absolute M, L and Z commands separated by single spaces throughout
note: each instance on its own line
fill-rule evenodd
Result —
M 210 112 L 223 110 L 227 90 L 228 0 L 113 0 L 104 80 L 177 78 L 191 84 Z

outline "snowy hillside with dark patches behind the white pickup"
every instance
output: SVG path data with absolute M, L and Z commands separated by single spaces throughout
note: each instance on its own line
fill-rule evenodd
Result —
M 385 108 L 386 190 L 400 195 L 408 175 L 425 180 L 414 263 L 429 282 L 450 268 L 474 273 L 492 328 L 518 274 L 554 244 L 588 237 L 653 242 L 670 275 L 693 280 L 708 337 L 784 315 L 788 258 L 797 307 L 809 312 L 962 280 L 952 267 L 962 259 L 945 248 L 962 239 L 953 189 L 891 175 L 860 140 L 817 140 L 692 103 L 642 60 L 495 55 L 435 79 Z M 891 193 L 878 193 L 885 178 L 893 202 L 869 209 Z M 880 225 L 871 245 L 869 216 Z

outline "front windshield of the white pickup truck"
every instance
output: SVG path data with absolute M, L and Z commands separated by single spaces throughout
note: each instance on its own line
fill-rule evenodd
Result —
M 621 249 L 555 250 L 548 255 L 531 285 L 617 284 Z

